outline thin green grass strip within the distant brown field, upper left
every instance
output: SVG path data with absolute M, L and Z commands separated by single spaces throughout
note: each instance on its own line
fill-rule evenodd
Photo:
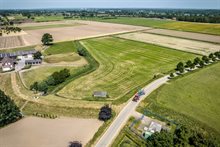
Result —
M 41 26 L 27 26 L 27 27 L 21 27 L 23 30 L 39 30 L 39 29 L 50 29 L 50 28 L 63 28 L 63 27 L 74 27 L 79 26 L 81 24 L 75 23 L 75 24 L 54 24 L 54 25 L 41 25 Z

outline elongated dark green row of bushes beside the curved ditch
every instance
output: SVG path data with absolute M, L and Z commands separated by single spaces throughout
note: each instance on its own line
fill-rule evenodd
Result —
M 30 86 L 30 90 L 32 91 L 40 91 L 47 93 L 49 86 L 56 86 L 58 84 L 63 83 L 70 76 L 70 70 L 64 68 L 63 70 L 56 71 L 49 77 L 47 77 L 44 81 L 34 82 Z

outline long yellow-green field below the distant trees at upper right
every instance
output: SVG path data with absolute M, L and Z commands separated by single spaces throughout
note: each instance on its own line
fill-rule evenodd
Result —
M 92 20 L 220 35 L 220 24 L 180 22 L 180 21 L 171 21 L 171 20 L 130 18 L 130 17 L 118 17 L 116 19 L 94 18 Z

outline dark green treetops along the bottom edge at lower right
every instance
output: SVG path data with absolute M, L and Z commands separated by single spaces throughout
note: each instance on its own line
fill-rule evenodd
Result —
M 177 127 L 173 133 L 165 130 L 156 132 L 146 142 L 149 147 L 218 146 L 216 139 L 206 131 L 186 126 Z

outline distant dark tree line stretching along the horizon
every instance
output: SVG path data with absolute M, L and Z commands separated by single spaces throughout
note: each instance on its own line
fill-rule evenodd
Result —
M 176 19 L 179 21 L 220 23 L 219 10 L 199 9 L 44 9 L 44 10 L 1 10 L 0 14 L 7 17 L 21 14 L 27 18 L 36 16 L 63 16 L 65 19 L 73 17 L 102 17 L 103 19 L 117 17 L 144 17 L 160 19 Z

